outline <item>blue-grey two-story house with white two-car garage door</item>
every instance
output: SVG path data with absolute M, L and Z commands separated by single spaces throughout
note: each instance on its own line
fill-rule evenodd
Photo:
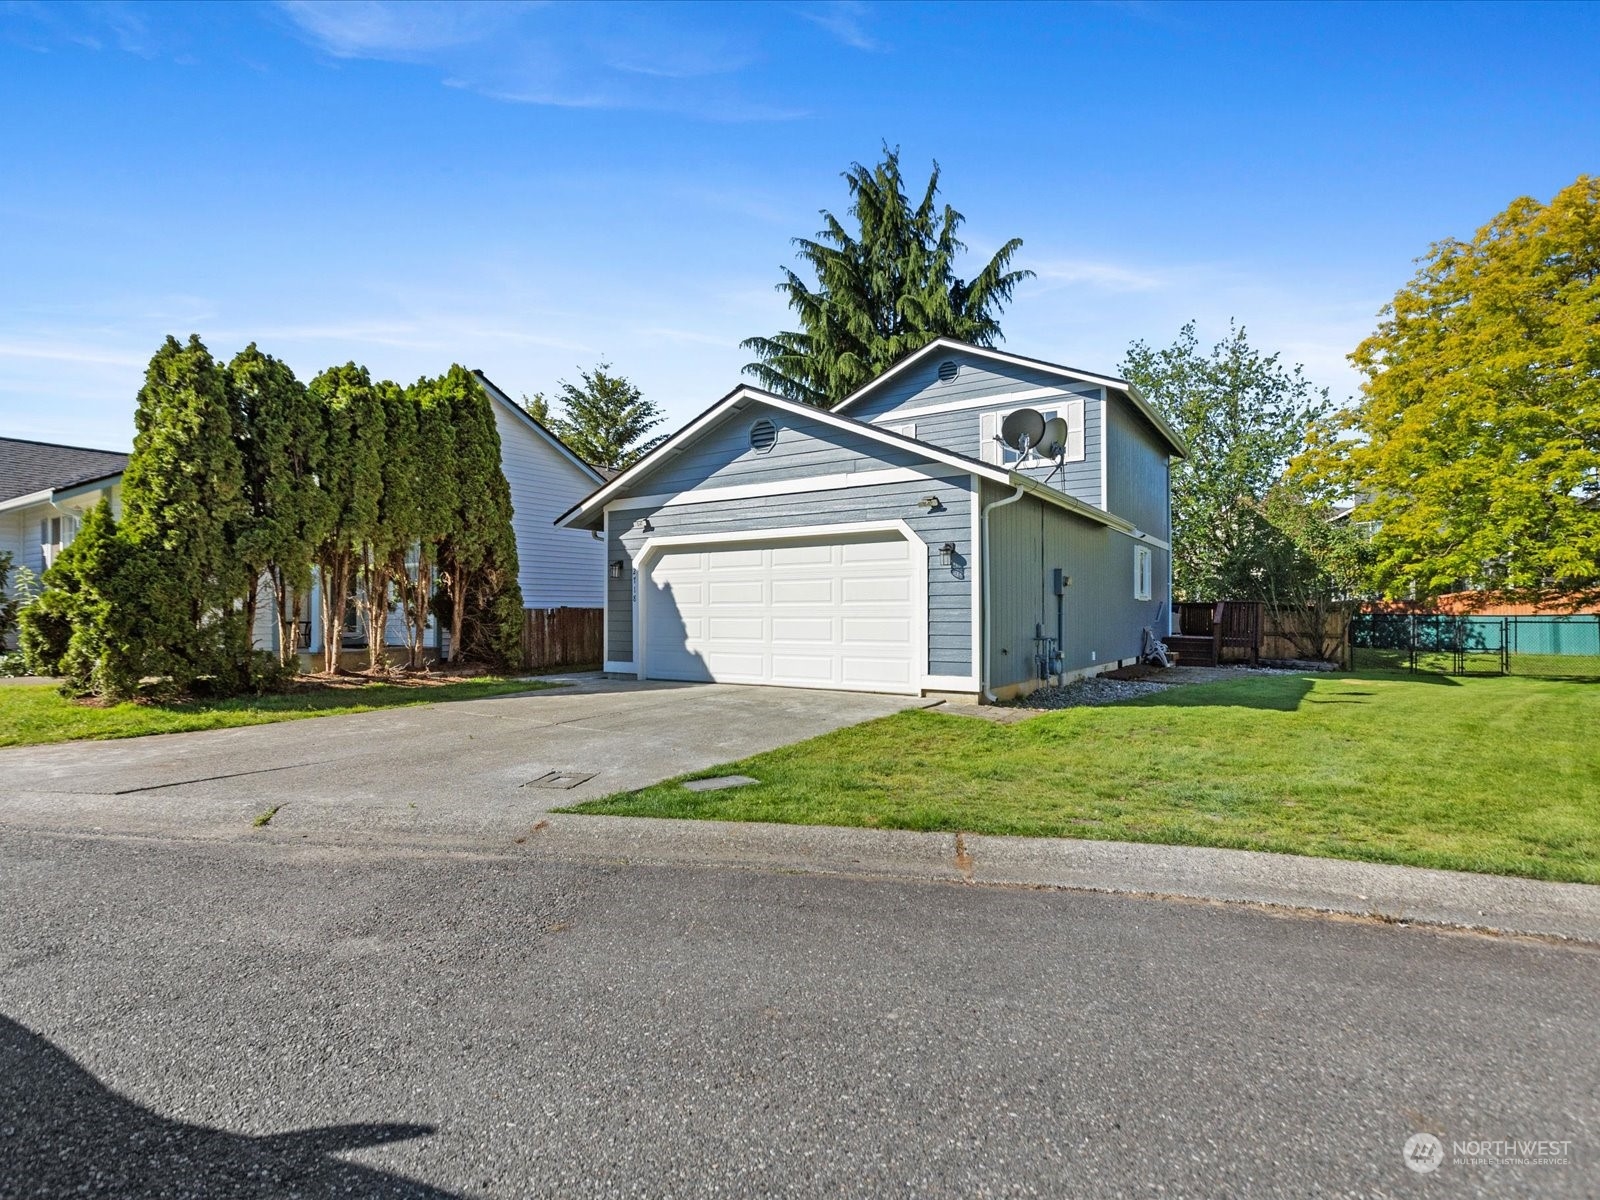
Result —
M 830 411 L 738 387 L 558 523 L 606 538 L 611 672 L 994 699 L 1166 632 L 1184 453 L 1123 379 L 939 339 Z

